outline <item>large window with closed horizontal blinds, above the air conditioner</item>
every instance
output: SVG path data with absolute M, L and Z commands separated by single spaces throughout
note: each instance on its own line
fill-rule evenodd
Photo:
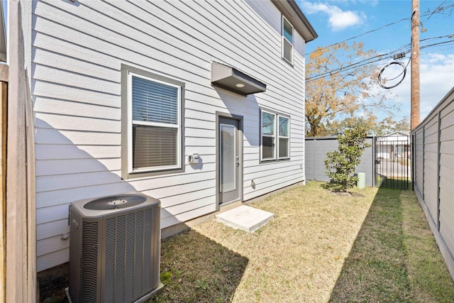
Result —
M 129 74 L 129 172 L 181 167 L 182 87 Z

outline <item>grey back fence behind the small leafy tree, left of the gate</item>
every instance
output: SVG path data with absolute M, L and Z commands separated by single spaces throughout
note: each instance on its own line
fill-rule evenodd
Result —
M 365 172 L 366 186 L 375 186 L 375 146 L 374 138 L 367 137 L 366 142 L 370 144 L 369 148 L 362 153 L 361 162 L 356 167 L 356 172 Z M 337 150 L 338 138 L 337 137 L 308 137 L 306 138 L 306 180 L 317 180 L 330 182 L 331 180 L 326 175 L 325 159 L 326 153 Z

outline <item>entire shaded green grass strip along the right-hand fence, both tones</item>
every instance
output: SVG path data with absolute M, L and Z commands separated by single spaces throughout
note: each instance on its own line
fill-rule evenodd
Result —
M 413 192 L 378 189 L 329 302 L 454 302 L 453 281 Z

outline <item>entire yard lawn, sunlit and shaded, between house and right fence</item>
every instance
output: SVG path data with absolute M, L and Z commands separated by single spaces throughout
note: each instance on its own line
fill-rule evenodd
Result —
M 453 280 L 411 191 L 310 182 L 252 205 L 255 233 L 208 221 L 162 241 L 152 302 L 454 302 Z

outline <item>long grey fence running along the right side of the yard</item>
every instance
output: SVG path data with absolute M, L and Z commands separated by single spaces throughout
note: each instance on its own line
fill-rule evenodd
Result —
M 454 88 L 411 131 L 414 191 L 454 279 Z

